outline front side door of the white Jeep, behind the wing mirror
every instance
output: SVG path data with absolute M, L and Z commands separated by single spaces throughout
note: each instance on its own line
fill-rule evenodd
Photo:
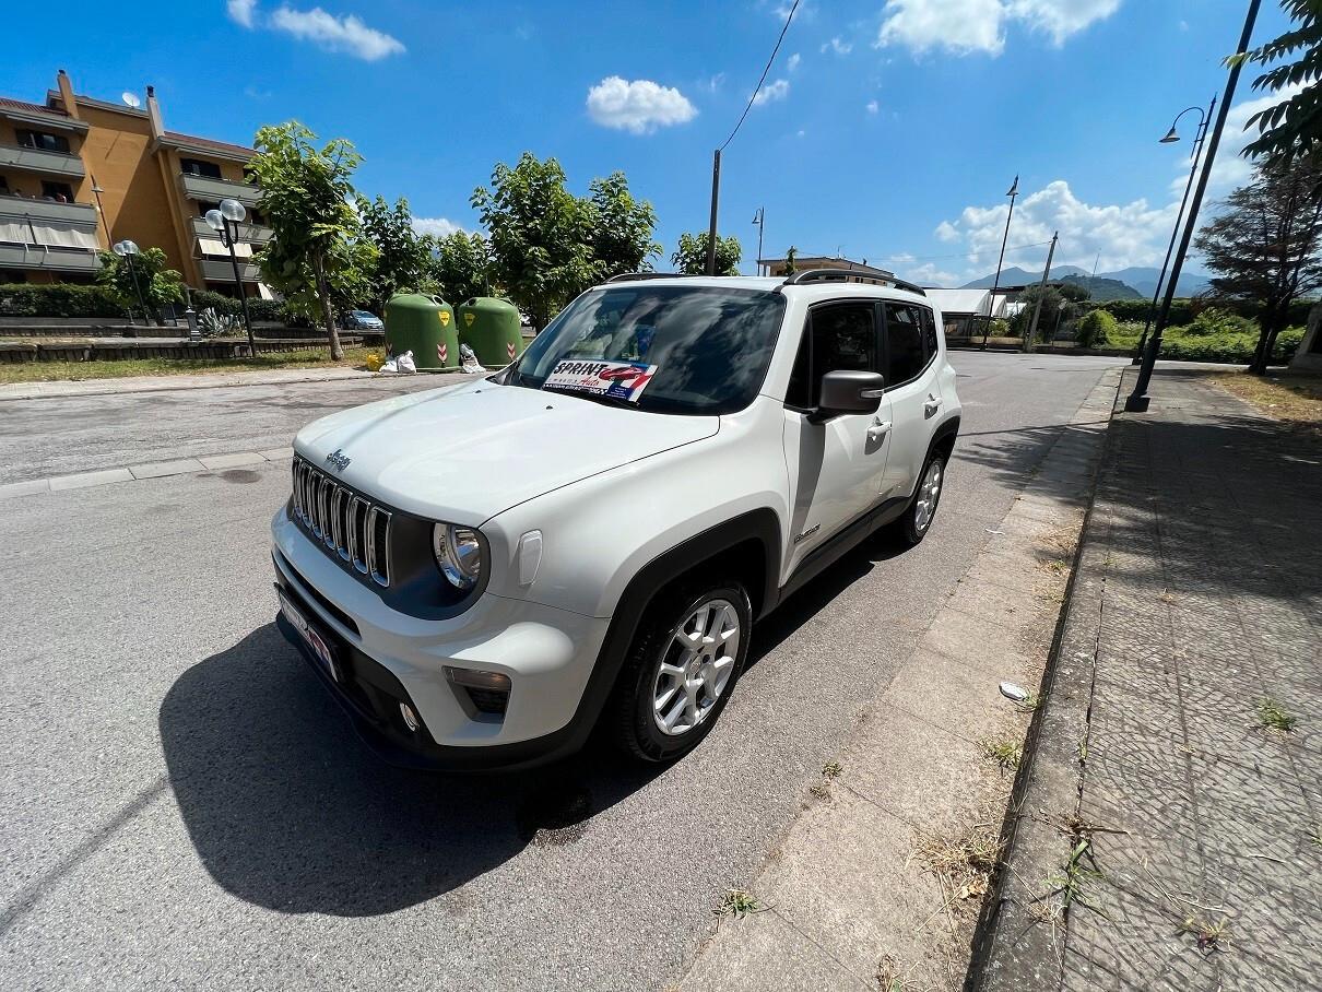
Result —
M 871 300 L 824 303 L 808 313 L 785 399 L 785 464 L 795 500 L 785 578 L 805 556 L 878 503 L 891 444 L 890 399 L 875 414 L 818 422 L 828 372 L 880 372 L 878 308 Z

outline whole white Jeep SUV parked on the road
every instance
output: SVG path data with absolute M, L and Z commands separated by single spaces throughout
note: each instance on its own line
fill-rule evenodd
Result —
M 486 378 L 324 417 L 271 524 L 280 628 L 394 763 L 526 766 L 711 730 L 751 627 L 932 525 L 941 313 L 837 270 L 613 279 Z

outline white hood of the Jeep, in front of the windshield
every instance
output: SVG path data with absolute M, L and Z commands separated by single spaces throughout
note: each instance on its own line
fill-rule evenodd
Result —
M 313 421 L 299 455 L 407 513 L 476 526 L 543 492 L 710 438 L 717 417 L 604 406 L 468 380 Z M 327 455 L 349 462 L 336 470 Z

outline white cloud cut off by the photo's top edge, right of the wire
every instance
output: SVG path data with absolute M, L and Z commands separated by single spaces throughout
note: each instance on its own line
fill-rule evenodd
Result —
M 1122 0 L 887 0 L 876 48 L 904 45 L 923 53 L 1005 50 L 1005 26 L 1018 21 L 1056 45 L 1113 15 Z

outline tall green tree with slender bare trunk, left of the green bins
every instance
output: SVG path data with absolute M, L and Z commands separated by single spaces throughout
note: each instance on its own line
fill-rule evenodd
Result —
M 263 127 L 247 169 L 262 186 L 258 208 L 274 237 L 256 255 L 263 280 L 284 295 L 287 310 L 320 320 L 330 357 L 342 358 L 336 306 L 354 299 L 375 265 L 362 237 L 350 177 L 362 156 L 344 138 L 320 151 L 297 120 Z

